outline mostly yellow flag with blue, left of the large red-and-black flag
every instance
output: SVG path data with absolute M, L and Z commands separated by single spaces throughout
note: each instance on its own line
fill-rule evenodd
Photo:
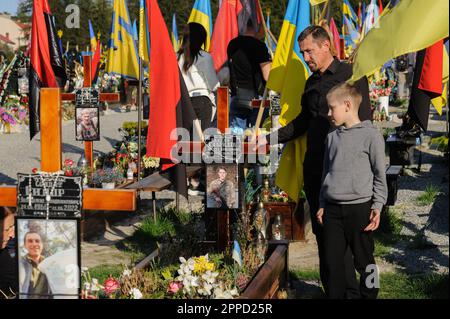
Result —
M 138 49 L 125 0 L 114 0 L 106 72 L 139 78 Z

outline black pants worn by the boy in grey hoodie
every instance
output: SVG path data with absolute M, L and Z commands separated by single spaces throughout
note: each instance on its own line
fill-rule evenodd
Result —
M 360 293 L 362 298 L 375 299 L 378 288 L 373 283 L 375 259 L 372 232 L 364 229 L 370 223 L 371 202 L 354 205 L 327 203 L 323 216 L 324 255 L 328 275 L 328 297 L 345 298 L 346 280 L 344 256 L 349 246 L 353 252 L 355 268 L 360 274 Z M 368 267 L 370 266 L 370 267 Z M 370 276 L 368 284 L 367 277 Z

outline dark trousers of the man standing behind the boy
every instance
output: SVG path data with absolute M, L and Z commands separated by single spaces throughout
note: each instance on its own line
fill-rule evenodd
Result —
M 303 171 L 304 176 L 304 190 L 306 199 L 308 200 L 312 231 L 316 236 L 317 247 L 319 249 L 319 267 L 320 267 L 320 280 L 322 281 L 325 293 L 329 295 L 328 291 L 328 273 L 325 264 L 325 250 L 323 240 L 323 227 L 317 222 L 317 211 L 319 210 L 319 194 L 322 184 L 322 175 L 310 174 L 307 169 Z M 359 284 L 356 280 L 355 266 L 353 263 L 353 255 L 350 247 L 347 247 L 345 252 L 345 283 L 346 283 L 346 298 L 358 299 L 360 298 Z

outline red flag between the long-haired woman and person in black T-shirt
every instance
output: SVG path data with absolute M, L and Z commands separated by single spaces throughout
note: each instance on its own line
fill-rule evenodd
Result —
M 223 0 L 220 6 L 211 40 L 211 55 L 217 72 L 228 60 L 228 44 L 239 35 L 237 17 L 241 10 L 240 0 Z

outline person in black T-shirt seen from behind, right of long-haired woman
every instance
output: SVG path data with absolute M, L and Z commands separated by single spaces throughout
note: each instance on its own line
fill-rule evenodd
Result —
M 272 67 L 269 51 L 264 42 L 257 39 L 251 19 L 245 34 L 230 41 L 227 54 L 232 96 L 230 127 L 245 130 L 249 123 L 252 126 L 256 123 L 258 109 L 252 109 L 250 102 L 264 93 Z

